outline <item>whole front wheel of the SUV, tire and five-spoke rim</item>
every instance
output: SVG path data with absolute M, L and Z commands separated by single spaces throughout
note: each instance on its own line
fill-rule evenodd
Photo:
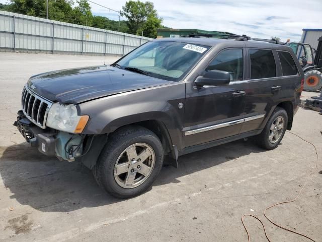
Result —
M 140 126 L 128 126 L 109 137 L 93 174 L 98 185 L 110 195 L 130 198 L 152 185 L 163 160 L 162 143 L 153 132 Z

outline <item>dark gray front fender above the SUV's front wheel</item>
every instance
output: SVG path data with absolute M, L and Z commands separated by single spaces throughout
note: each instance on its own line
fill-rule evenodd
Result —
M 185 101 L 185 83 L 170 84 L 116 94 L 79 104 L 81 115 L 90 120 L 84 134 L 108 134 L 116 129 L 145 121 L 163 122 L 172 143 L 181 149 L 181 132 Z

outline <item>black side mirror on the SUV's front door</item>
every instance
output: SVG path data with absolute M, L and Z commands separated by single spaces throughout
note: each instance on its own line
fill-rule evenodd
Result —
M 195 84 L 197 87 L 222 86 L 222 85 L 228 85 L 229 82 L 230 82 L 229 72 L 211 70 L 211 71 L 206 71 L 203 76 L 199 76 L 196 79 Z

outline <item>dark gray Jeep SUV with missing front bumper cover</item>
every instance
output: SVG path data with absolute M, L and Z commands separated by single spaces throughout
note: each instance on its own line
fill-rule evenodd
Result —
M 31 77 L 15 125 L 32 147 L 83 162 L 108 193 L 128 198 L 180 155 L 250 136 L 276 148 L 303 78 L 287 46 L 157 39 L 110 66 Z

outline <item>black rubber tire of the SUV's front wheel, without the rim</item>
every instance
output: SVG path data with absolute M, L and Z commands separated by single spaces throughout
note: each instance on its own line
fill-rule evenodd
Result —
M 121 139 L 118 142 L 113 143 L 112 146 L 114 148 L 110 149 L 109 154 L 104 160 L 103 159 L 100 160 L 100 163 L 101 163 L 100 169 L 103 169 L 100 171 L 102 185 L 108 193 L 119 198 L 128 198 L 128 197 L 137 196 L 143 193 L 145 190 L 147 190 L 152 185 L 160 169 L 162 168 L 163 156 L 164 156 L 162 144 L 160 143 L 157 137 L 151 134 L 143 134 L 143 135 L 137 136 L 135 133 L 133 133 L 124 138 L 125 139 Z M 111 142 L 113 142 L 113 140 Z M 117 184 L 114 177 L 114 168 L 119 155 L 127 147 L 135 143 L 148 144 L 154 151 L 155 162 L 154 162 L 154 167 L 152 169 L 151 174 L 144 181 L 144 183 L 142 183 L 138 187 L 126 189 L 126 188 L 120 187 Z M 104 164 L 102 164 L 102 162 Z

